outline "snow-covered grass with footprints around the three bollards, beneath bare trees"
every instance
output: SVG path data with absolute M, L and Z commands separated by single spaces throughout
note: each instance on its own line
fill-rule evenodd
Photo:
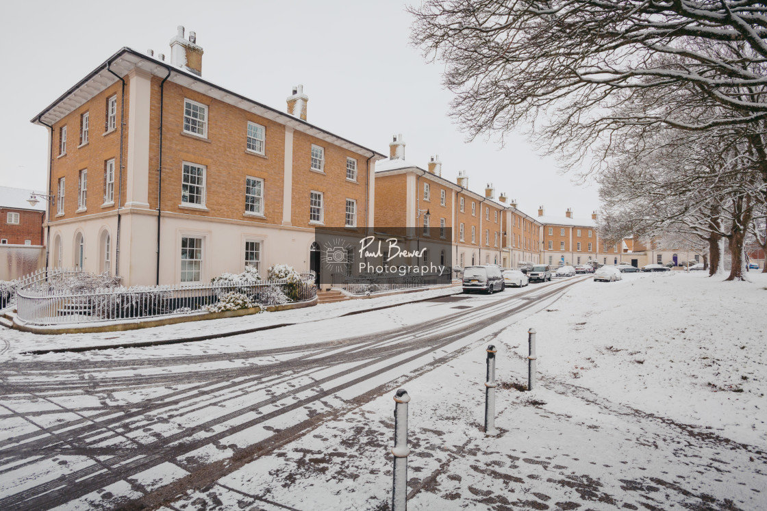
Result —
M 751 277 L 580 283 L 173 509 L 388 509 L 396 384 L 412 397 L 410 509 L 767 509 L 767 278 Z M 498 437 L 482 433 L 489 342 Z

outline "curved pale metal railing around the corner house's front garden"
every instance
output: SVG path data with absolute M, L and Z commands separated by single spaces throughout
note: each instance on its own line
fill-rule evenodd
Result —
M 228 293 L 242 295 L 251 303 L 275 305 L 312 300 L 317 289 L 313 274 L 302 274 L 301 280 L 112 287 L 77 292 L 67 283 L 36 280 L 17 290 L 16 309 L 19 319 L 35 325 L 124 321 L 201 312 L 206 306 L 221 303 Z

